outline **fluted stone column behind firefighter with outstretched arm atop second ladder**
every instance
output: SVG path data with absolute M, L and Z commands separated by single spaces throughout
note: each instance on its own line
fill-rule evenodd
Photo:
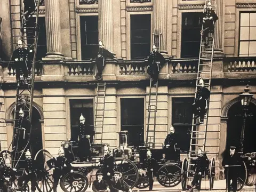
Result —
M 99 0 L 99 39 L 114 52 L 113 0 Z

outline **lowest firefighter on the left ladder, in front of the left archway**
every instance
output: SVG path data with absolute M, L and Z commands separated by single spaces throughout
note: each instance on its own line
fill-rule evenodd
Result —
M 22 108 L 19 111 L 19 120 L 14 126 L 14 145 L 13 150 L 23 151 L 28 143 L 29 132 L 31 124 L 28 119 L 24 118 L 24 112 Z

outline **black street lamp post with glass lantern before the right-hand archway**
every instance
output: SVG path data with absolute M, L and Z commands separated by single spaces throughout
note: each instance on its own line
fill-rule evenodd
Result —
M 244 150 L 244 130 L 245 130 L 245 122 L 247 117 L 251 117 L 251 115 L 247 115 L 248 106 L 250 105 L 251 99 L 253 94 L 249 93 L 249 85 L 246 85 L 244 92 L 239 94 L 239 98 L 241 99 L 241 104 L 243 106 L 243 126 L 241 131 L 241 138 L 240 138 L 240 150 L 243 153 Z

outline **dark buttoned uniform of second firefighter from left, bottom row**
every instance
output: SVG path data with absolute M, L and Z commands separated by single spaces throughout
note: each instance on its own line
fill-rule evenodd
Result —
M 34 159 L 29 158 L 25 160 L 25 171 L 28 174 L 22 175 L 18 180 L 19 187 L 22 186 L 23 181 L 25 181 L 25 185 L 28 183 L 28 181 L 31 182 L 31 191 L 36 190 L 36 171 L 37 171 L 37 163 L 34 161 Z

